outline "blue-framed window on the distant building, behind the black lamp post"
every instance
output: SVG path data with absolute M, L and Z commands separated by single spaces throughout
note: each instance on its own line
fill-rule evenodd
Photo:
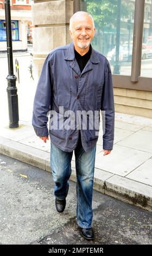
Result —
M 18 41 L 18 21 L 11 21 L 11 35 L 12 41 Z M 6 22 L 5 20 L 0 20 L 0 41 L 6 41 Z

